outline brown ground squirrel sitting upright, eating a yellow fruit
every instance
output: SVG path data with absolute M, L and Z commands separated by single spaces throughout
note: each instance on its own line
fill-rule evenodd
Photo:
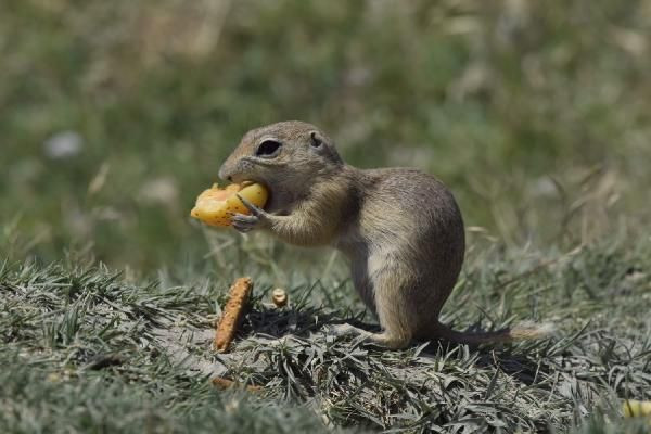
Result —
M 283 122 L 251 130 L 219 169 L 231 182 L 265 184 L 270 200 L 233 227 L 270 231 L 303 246 L 331 245 L 350 261 L 353 282 L 376 315 L 371 341 L 401 348 L 416 340 L 458 343 L 535 339 L 545 327 L 462 333 L 438 321 L 463 263 L 461 213 L 436 178 L 412 168 L 347 165 L 317 127 Z

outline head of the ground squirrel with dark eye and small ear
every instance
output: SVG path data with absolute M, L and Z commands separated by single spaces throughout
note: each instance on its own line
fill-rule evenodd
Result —
M 264 183 L 279 189 L 309 188 L 336 173 L 343 161 L 332 141 L 314 125 L 289 120 L 253 129 L 221 165 L 219 177 L 230 182 Z

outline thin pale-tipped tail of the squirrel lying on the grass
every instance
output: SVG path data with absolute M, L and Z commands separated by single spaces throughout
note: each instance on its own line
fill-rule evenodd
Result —
M 486 343 L 500 343 L 524 340 L 538 340 L 548 337 L 554 332 L 550 323 L 521 323 L 509 329 L 490 332 L 458 332 L 438 322 L 431 331 L 429 339 L 444 339 L 457 344 L 478 345 Z

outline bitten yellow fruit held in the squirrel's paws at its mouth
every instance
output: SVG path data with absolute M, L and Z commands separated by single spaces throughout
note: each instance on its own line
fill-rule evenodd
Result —
M 259 207 L 265 206 L 269 196 L 267 189 L 259 183 L 233 183 L 225 189 L 214 184 L 196 197 L 196 204 L 190 215 L 209 226 L 230 226 L 230 213 L 251 214 L 237 194 Z

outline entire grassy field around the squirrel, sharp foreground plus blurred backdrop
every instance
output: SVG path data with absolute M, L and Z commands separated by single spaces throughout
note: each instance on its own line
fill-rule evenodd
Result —
M 620 409 L 651 399 L 648 1 L 0 9 L 0 431 L 644 432 Z M 354 165 L 449 184 L 469 253 L 444 321 L 558 334 L 328 337 L 373 321 L 340 256 L 188 217 L 245 130 L 290 118 Z M 257 298 L 217 357 L 244 275 Z M 215 371 L 263 392 L 216 391 Z

